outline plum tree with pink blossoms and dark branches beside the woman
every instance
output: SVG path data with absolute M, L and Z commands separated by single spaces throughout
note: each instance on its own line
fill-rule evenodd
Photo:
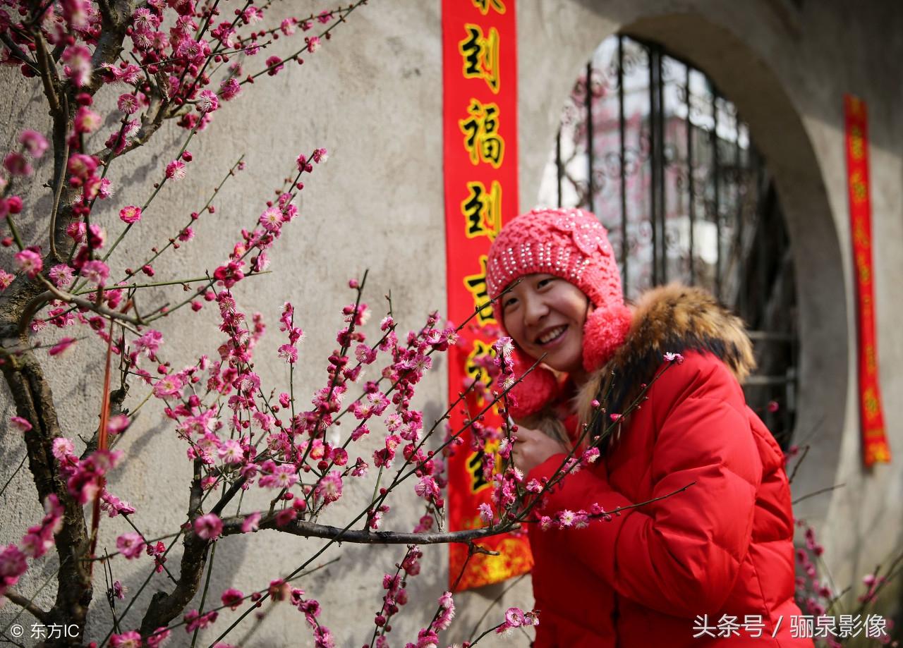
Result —
M 209 591 L 218 542 L 274 530 L 323 538 L 326 546 L 405 545 L 396 572 L 383 580 L 385 593 L 369 642 L 386 646 L 389 621 L 407 603 L 405 584 L 421 570 L 424 545 L 468 542 L 472 555 L 485 551 L 477 543 L 480 538 L 517 532 L 523 523 L 579 526 L 617 513 L 597 508 L 542 517 L 533 513 L 564 474 L 598 458 L 596 448 L 573 451 L 559 473 L 542 484 L 524 484 L 515 466 L 494 469 L 495 459 L 486 453 L 485 470 L 495 494 L 495 505 L 482 512 L 486 526 L 442 531 L 444 454 L 463 443 L 467 430 L 478 447 L 502 440 L 501 458 L 510 454 L 515 426 L 493 430 L 479 424 L 493 407 L 506 412 L 507 394 L 517 384 L 510 344 L 502 340 L 487 361 L 498 382 L 485 394 L 485 407 L 470 412 L 461 430 L 445 430 L 442 423 L 452 408 L 461 406 L 466 393 L 478 388 L 476 383 L 465 386 L 437 421 L 424 421 L 423 412 L 412 405 L 415 388 L 433 355 L 455 345 L 457 332 L 468 322 L 454 327 L 433 313 L 419 329 L 399 337 L 388 301 L 387 315 L 371 341 L 366 323 L 372 309 L 362 301 L 366 273 L 359 282 L 349 282 L 354 299 L 342 310 L 337 347 L 310 405 L 303 405 L 294 381 L 304 333 L 296 318 L 301 313 L 291 303 L 284 304 L 278 323 L 283 341 L 278 356 L 288 366 L 287 388 L 262 384 L 254 354 L 265 324 L 259 314 L 241 310 L 233 289 L 267 272 L 267 252 L 298 218 L 295 202 L 304 187 L 303 176 L 327 160 L 324 148 L 312 146 L 293 161 L 293 177 L 282 183 L 276 199 L 248 219 L 217 267 L 191 278 L 154 281 L 154 264 L 191 241 L 195 221 L 215 210 L 213 199 L 244 168 L 242 159 L 190 218 L 172 222 L 171 237 L 145 256 L 115 256 L 126 237 L 135 236 L 160 190 L 190 172 L 193 156 L 188 146 L 195 136 L 215 128 L 217 113 L 232 109 L 233 102 L 240 106 L 256 82 L 287 74 L 290 64 L 321 50 L 366 4 L 358 0 L 310 15 L 275 18 L 272 0 L 263 5 L 244 0 L 229 11 L 226 0 L 4 0 L 0 5 L 0 62 L 33 79 L 51 117 L 48 134 L 19 134 L 14 150 L 3 155 L 0 171 L 0 219 L 5 226 L 0 244 L 8 250 L 0 256 L 0 366 L 16 411 L 7 433 L 24 440 L 23 465 L 27 460 L 43 507 L 42 514 L 35 514 L 39 522 L 23 537 L 3 539 L 0 596 L 45 625 L 76 629 L 47 637 L 45 643 L 86 643 L 88 617 L 103 605 L 102 597 L 95 596 L 98 574 L 111 574 L 108 566 L 114 560 L 148 560 L 150 573 L 135 592 L 107 580 L 113 624 L 94 644 L 156 646 L 173 633 L 187 632 L 195 645 L 199 632 L 210 629 L 217 634 L 213 643 L 226 645 L 221 642 L 233 640 L 230 633 L 237 625 L 271 599 L 297 607 L 314 642 L 330 646 L 335 638 L 324 624 L 315 593 L 295 586 L 297 579 L 317 569 L 315 562 L 325 548 L 247 594 L 227 588 L 217 597 Z M 279 38 L 296 39 L 296 51 L 259 62 L 267 45 Z M 100 105 L 113 106 L 112 112 Z M 100 218 L 98 200 L 114 200 L 110 168 L 139 147 L 156 145 L 154 135 L 168 120 L 182 128 L 183 136 L 172 150 L 160 145 L 165 162 L 155 171 L 158 180 L 150 196 L 141 204 L 105 210 L 119 222 Z M 111 123 L 115 126 L 103 132 Z M 35 163 L 44 155 L 52 158 L 51 177 L 44 185 L 49 199 L 39 207 L 26 204 L 22 196 L 37 181 Z M 26 217 L 42 225 L 31 237 L 17 225 Z M 107 228 L 115 228 L 116 236 L 108 236 Z M 152 288 L 172 289 L 176 296 L 167 293 L 161 303 L 148 305 L 143 295 Z M 222 338 L 209 354 L 200 353 L 188 365 L 174 368 L 165 357 L 163 333 L 154 324 L 163 318 L 191 317 L 205 305 L 215 307 Z M 40 331 L 52 333 L 54 341 L 38 343 Z M 70 429 L 65 415 L 70 403 L 51 392 L 48 366 L 73 345 L 87 344 L 85 339 L 105 349 L 105 371 L 98 425 L 79 441 L 79 430 Z M 376 370 L 370 372 L 376 378 L 364 379 L 368 366 Z M 147 393 L 140 402 L 135 396 L 139 388 Z M 124 460 L 124 452 L 116 448 L 118 440 L 152 398 L 162 403 L 167 426 L 182 440 L 191 464 L 188 501 L 167 501 L 180 507 L 182 523 L 163 538 L 148 538 L 140 512 L 107 487 L 107 476 Z M 346 422 L 343 430 L 349 431 L 340 432 L 340 422 Z M 371 433 L 380 435 L 378 448 L 361 454 L 358 441 Z M 349 483 L 368 471 L 377 473 L 377 487 L 356 503 L 358 513 L 341 526 L 321 523 L 323 511 L 333 510 L 348 496 Z M 386 531 L 382 525 L 392 495 L 403 485 L 413 487 L 424 513 L 411 532 Z M 105 517 L 119 517 L 131 530 L 118 535 L 115 552 L 101 555 L 98 528 Z M 182 551 L 175 565 L 170 559 L 177 546 Z M 59 559 L 56 594 L 52 606 L 43 609 L 16 586 L 53 548 Z M 140 622 L 126 623 L 155 575 L 165 579 L 165 587 L 154 586 L 158 590 L 140 611 Z M 189 609 L 199 592 L 200 607 Z M 126 601 L 126 607 L 118 609 L 117 601 Z M 407 645 L 438 643 L 439 633 L 454 616 L 452 591 L 435 605 L 432 620 Z M 487 632 L 536 623 L 534 613 L 511 608 Z M 476 641 L 479 637 L 472 643 Z

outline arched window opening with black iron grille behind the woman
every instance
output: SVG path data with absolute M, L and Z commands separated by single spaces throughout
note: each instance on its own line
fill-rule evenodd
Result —
M 652 42 L 601 42 L 563 106 L 539 203 L 588 208 L 610 232 L 628 300 L 709 289 L 747 323 L 747 401 L 787 446 L 795 424 L 790 242 L 749 129 L 705 73 Z

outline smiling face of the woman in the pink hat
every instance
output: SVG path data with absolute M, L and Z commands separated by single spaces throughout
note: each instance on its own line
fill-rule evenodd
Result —
M 590 300 L 554 274 L 527 274 L 502 295 L 502 318 L 508 335 L 527 355 L 556 371 L 580 373 L 583 324 Z

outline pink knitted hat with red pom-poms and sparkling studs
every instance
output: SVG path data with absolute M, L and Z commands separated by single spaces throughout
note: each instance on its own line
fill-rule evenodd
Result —
M 604 365 L 627 336 L 630 311 L 624 305 L 608 233 L 599 219 L 582 209 L 535 208 L 507 223 L 489 248 L 489 296 L 498 296 L 508 284 L 532 273 L 561 277 L 590 298 L 595 309 L 583 327 L 583 367 L 594 371 Z M 493 309 L 504 328 L 498 301 Z M 524 365 L 528 358 L 517 361 L 517 365 Z M 526 367 L 532 364 L 529 361 Z M 541 373 L 538 367 L 518 384 L 517 409 L 521 415 L 541 409 L 554 396 L 549 393 L 552 384 L 557 383 L 551 372 Z

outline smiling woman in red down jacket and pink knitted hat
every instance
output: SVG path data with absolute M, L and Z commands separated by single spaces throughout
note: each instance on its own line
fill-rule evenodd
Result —
M 754 366 L 740 319 L 677 285 L 628 309 L 605 229 L 578 209 L 507 224 L 487 280 L 493 295 L 512 286 L 496 313 L 520 366 L 544 363 L 513 390 L 512 459 L 527 482 L 562 466 L 593 400 L 608 394 L 617 420 L 650 385 L 615 434 L 583 441 L 601 459 L 564 477 L 529 524 L 535 646 L 812 646 L 793 600 L 783 456 L 740 389 Z M 538 523 L 593 505 L 628 508 Z

